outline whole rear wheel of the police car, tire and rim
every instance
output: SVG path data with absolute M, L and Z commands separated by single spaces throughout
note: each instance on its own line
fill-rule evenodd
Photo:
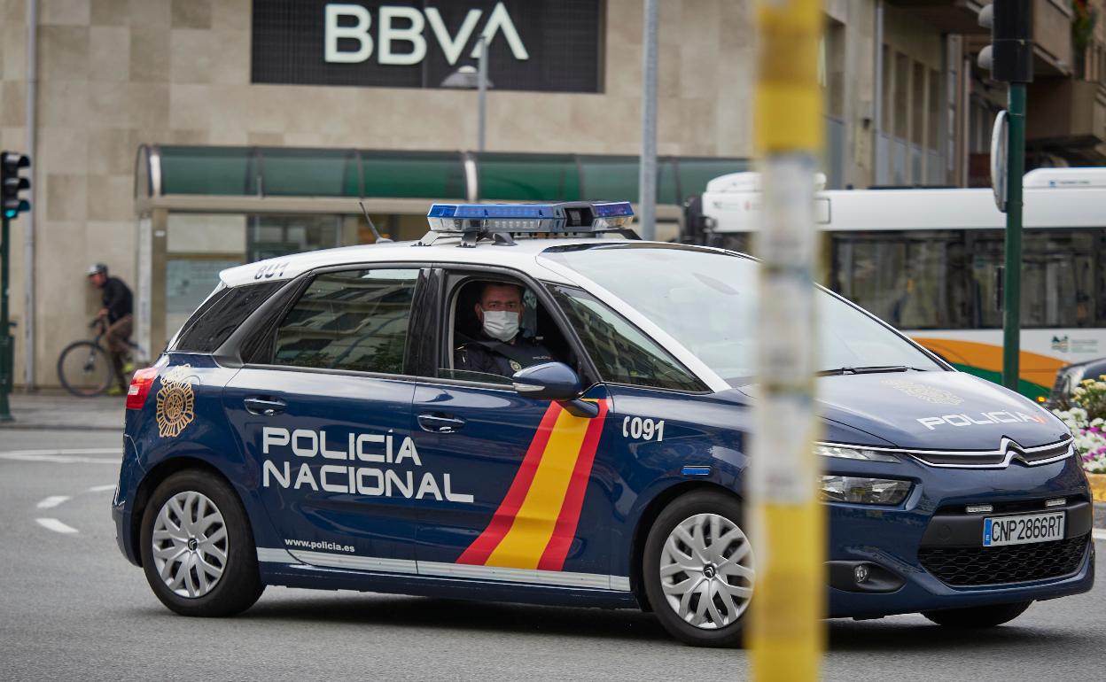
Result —
M 181 616 L 233 616 L 264 590 L 246 510 L 215 474 L 187 470 L 163 481 L 139 538 L 146 580 Z

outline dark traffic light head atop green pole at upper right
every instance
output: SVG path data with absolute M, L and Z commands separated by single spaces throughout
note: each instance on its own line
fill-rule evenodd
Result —
M 1004 83 L 1033 82 L 1033 3 L 994 0 L 979 11 L 979 25 L 991 29 L 991 44 L 979 53 L 979 65 Z

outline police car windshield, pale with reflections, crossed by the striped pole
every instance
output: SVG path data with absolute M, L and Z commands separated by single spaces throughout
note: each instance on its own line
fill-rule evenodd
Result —
M 678 244 L 577 244 L 543 259 L 567 266 L 637 309 L 731 386 L 753 367 L 755 261 Z M 820 370 L 828 374 L 940 369 L 878 321 L 824 290 L 816 296 Z

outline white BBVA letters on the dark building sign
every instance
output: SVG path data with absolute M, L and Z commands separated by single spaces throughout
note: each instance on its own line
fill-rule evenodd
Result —
M 325 60 L 340 64 L 357 64 L 367 61 L 373 55 L 373 15 L 361 4 L 327 4 L 324 9 L 324 42 Z M 418 64 L 426 57 L 426 38 L 424 30 L 426 24 L 430 24 L 430 31 L 441 46 L 446 55 L 446 61 L 450 65 L 457 63 L 461 52 L 469 44 L 472 32 L 483 11 L 471 9 L 465 15 L 465 20 L 457 29 L 457 34 L 452 35 L 441 19 L 441 13 L 437 8 L 428 7 L 419 10 L 414 7 L 385 4 L 382 6 L 377 15 L 378 28 L 376 42 L 378 44 L 376 60 L 380 64 Z M 507 40 L 511 54 L 517 60 L 529 60 L 530 54 L 526 46 L 519 38 L 519 31 L 511 21 L 511 15 L 502 2 L 497 2 L 488 19 L 483 24 L 480 35 L 487 44 L 498 33 L 502 33 Z M 340 50 L 342 39 L 356 41 L 357 49 Z M 406 43 L 409 48 L 404 52 L 396 50 L 397 44 Z M 472 59 L 479 56 L 480 45 L 477 43 L 469 54 Z

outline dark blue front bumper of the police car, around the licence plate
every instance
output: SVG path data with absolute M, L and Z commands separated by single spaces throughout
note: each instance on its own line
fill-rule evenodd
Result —
M 902 469 L 909 469 L 915 481 L 900 507 L 827 505 L 831 618 L 1054 599 L 1093 587 L 1093 508 L 1074 458 L 997 470 L 887 466 L 895 469 L 880 473 L 902 478 Z M 1045 500 L 1058 497 L 1066 500 L 1064 506 L 1044 507 Z M 994 512 L 967 514 L 969 504 L 991 504 Z M 984 517 L 1055 511 L 1065 512 L 1063 541 L 982 547 Z M 878 575 L 874 589 L 848 583 L 843 567 L 857 564 Z

